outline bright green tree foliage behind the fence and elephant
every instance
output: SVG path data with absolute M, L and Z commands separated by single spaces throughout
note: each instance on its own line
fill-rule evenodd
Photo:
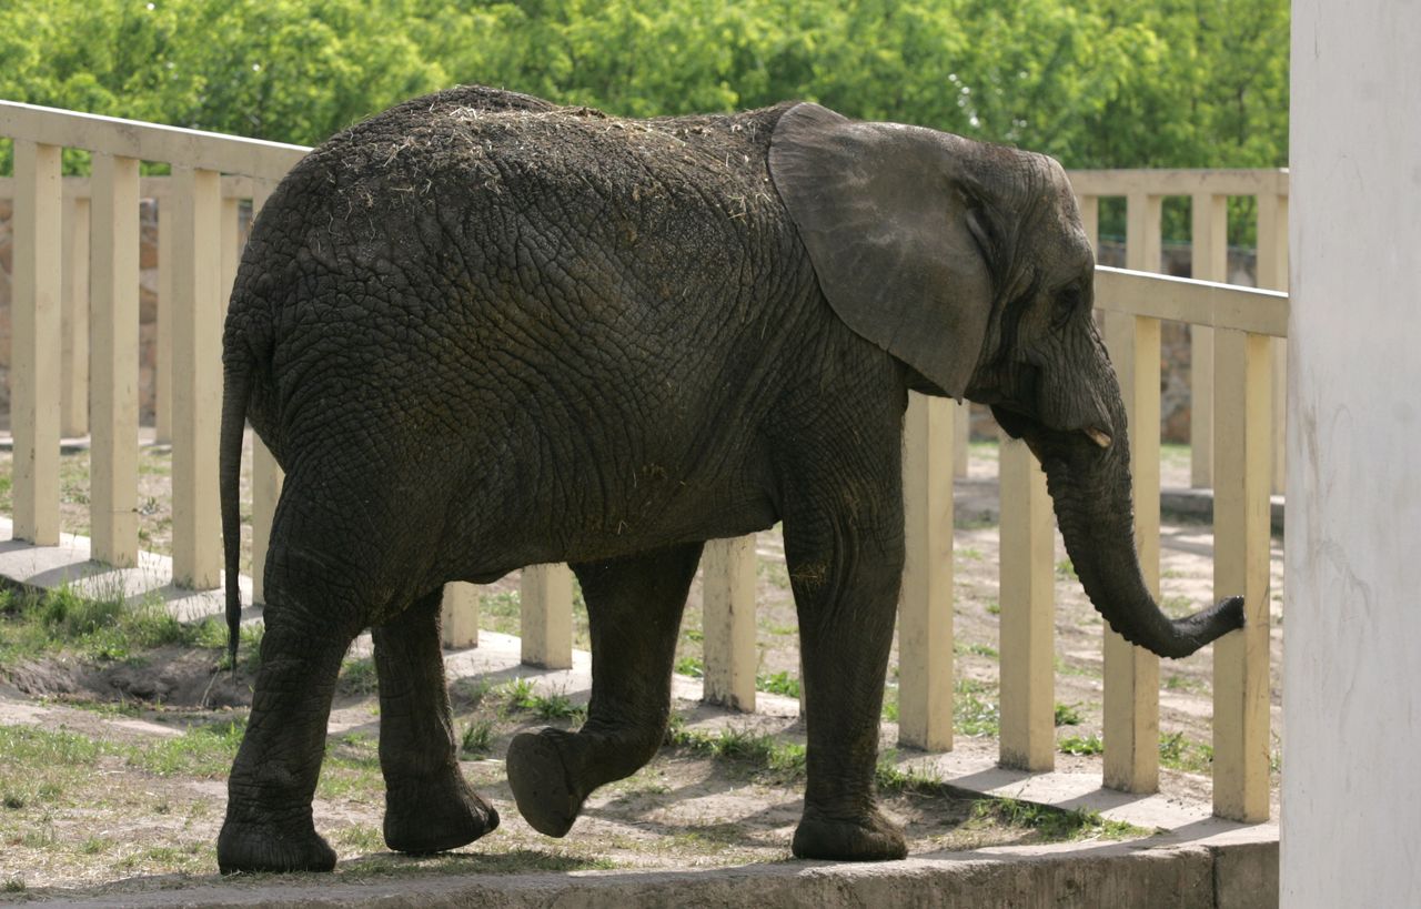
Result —
M 485 82 L 651 116 L 806 98 L 1071 168 L 1277 166 L 1286 0 L 0 0 L 0 98 L 315 143 Z

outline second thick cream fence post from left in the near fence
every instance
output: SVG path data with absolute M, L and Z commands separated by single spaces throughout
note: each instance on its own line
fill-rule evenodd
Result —
M 92 555 L 138 564 L 138 160 L 94 153 Z

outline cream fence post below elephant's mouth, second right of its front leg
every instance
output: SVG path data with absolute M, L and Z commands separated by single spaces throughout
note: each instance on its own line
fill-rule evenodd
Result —
M 1025 442 L 1002 433 L 999 763 L 1056 766 L 1056 527 L 1046 474 Z

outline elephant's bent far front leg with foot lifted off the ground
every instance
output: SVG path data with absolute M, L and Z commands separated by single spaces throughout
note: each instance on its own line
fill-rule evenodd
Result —
M 509 785 L 539 832 L 567 834 L 593 790 L 637 773 L 661 747 L 676 633 L 701 548 L 693 543 L 573 565 L 593 638 L 587 723 L 577 734 L 544 729 L 509 746 Z

